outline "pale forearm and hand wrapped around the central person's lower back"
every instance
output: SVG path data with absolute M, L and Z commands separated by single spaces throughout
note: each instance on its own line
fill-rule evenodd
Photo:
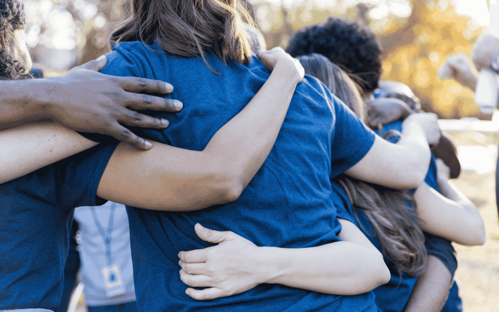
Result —
M 350 241 L 311 248 L 256 247 L 233 232 L 205 229 L 198 236 L 219 244 L 180 252 L 180 278 L 191 287 L 186 294 L 196 300 L 227 297 L 258 284 L 289 287 L 335 295 L 369 292 L 390 279 L 381 253 L 349 221 L 340 220 L 341 236 Z

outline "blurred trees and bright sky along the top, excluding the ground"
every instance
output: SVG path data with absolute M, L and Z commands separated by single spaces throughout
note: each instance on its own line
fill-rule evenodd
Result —
M 106 30 L 126 16 L 127 0 L 26 0 L 33 61 L 56 71 L 109 50 Z M 471 52 L 489 23 L 487 0 L 249 0 L 267 47 L 286 45 L 300 27 L 328 16 L 368 24 L 384 49 L 383 79 L 403 82 L 423 109 L 442 118 L 482 116 L 473 93 L 436 71 L 448 55 Z

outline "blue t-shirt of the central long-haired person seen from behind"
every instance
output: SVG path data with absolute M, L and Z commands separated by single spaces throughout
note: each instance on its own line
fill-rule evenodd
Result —
M 184 109 L 159 113 L 166 130 L 134 129 L 138 135 L 191 150 L 203 150 L 225 123 L 260 89 L 269 71 L 253 57 L 250 65 L 185 58 L 157 45 L 125 42 L 107 54 L 101 71 L 168 81 Z M 243 294 L 196 301 L 185 294 L 178 253 L 212 246 L 199 239 L 194 225 L 233 231 L 258 246 L 304 248 L 338 241 L 330 177 L 357 163 L 375 134 L 333 98 L 317 79 L 305 76 L 268 158 L 240 198 L 189 213 L 128 207 L 135 291 L 141 311 L 376 311 L 374 296 L 333 296 L 263 284 Z

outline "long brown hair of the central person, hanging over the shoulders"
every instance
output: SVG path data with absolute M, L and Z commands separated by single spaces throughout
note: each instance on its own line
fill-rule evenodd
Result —
M 249 64 L 251 45 L 243 22 L 254 25 L 239 0 L 132 0 L 131 16 L 112 31 L 111 47 L 124 41 L 154 40 L 166 52 L 205 58 L 213 51 L 222 61 Z

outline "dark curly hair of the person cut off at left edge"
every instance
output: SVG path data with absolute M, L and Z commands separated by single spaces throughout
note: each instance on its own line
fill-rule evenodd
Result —
M 0 0 L 0 77 L 3 79 L 28 78 L 25 64 L 14 58 L 10 45 L 14 31 L 24 27 L 23 0 Z

